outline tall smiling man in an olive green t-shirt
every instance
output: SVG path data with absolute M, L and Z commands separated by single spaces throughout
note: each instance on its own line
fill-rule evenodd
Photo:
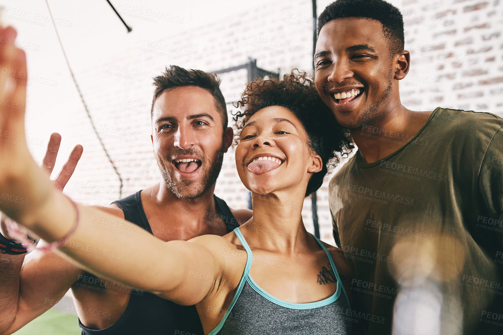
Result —
M 406 109 L 403 20 L 381 0 L 318 19 L 318 93 L 358 146 L 330 181 L 368 334 L 503 333 L 503 119 Z

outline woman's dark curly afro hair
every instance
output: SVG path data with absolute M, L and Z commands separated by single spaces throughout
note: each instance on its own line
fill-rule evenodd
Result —
M 305 72 L 293 69 L 291 73 L 283 75 L 283 80 L 259 78 L 248 83 L 241 100 L 235 104 L 241 111 L 232 114 L 238 130 L 236 144 L 249 118 L 268 106 L 290 109 L 307 133 L 307 146 L 323 161 L 322 170 L 314 173 L 307 184 L 307 197 L 319 189 L 323 177 L 339 163 L 340 157 L 346 157 L 354 148 L 351 136 L 321 101 L 312 78 Z

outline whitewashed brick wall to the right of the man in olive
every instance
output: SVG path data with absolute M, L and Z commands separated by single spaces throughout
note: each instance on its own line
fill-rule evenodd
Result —
M 394 5 L 404 15 L 405 49 L 411 52 L 410 72 L 400 82 L 402 103 L 413 110 L 440 105 L 502 116 L 503 73 L 496 66 L 503 61 L 500 1 Z M 437 96 L 444 98 L 440 104 Z

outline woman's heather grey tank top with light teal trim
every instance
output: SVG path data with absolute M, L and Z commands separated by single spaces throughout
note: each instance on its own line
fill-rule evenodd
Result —
M 234 229 L 234 233 L 246 250 L 246 265 L 234 298 L 222 321 L 208 335 L 346 335 L 351 333 L 351 309 L 348 296 L 330 253 L 319 239 L 313 235 L 325 251 L 336 275 L 337 290 L 326 299 L 299 304 L 273 297 L 251 279 L 249 271 L 253 254 L 239 227 Z

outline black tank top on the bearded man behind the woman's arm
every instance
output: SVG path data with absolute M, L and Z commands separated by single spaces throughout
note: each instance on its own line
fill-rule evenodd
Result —
M 129 197 L 114 201 L 122 211 L 126 220 L 137 224 L 152 233 L 143 206 L 140 192 Z M 227 231 L 231 232 L 239 226 L 229 207 L 222 199 L 213 195 L 217 214 L 225 222 Z M 94 276 L 87 274 L 87 276 Z M 89 277 L 87 277 L 89 283 Z M 96 277 L 95 277 L 96 278 Z M 96 281 L 100 281 L 96 278 Z M 87 284 L 89 287 L 89 284 Z M 149 292 L 131 291 L 129 302 L 122 316 L 108 328 L 93 330 L 84 326 L 80 319 L 78 325 L 82 335 L 203 335 L 203 327 L 197 314 L 196 306 L 181 306 Z

